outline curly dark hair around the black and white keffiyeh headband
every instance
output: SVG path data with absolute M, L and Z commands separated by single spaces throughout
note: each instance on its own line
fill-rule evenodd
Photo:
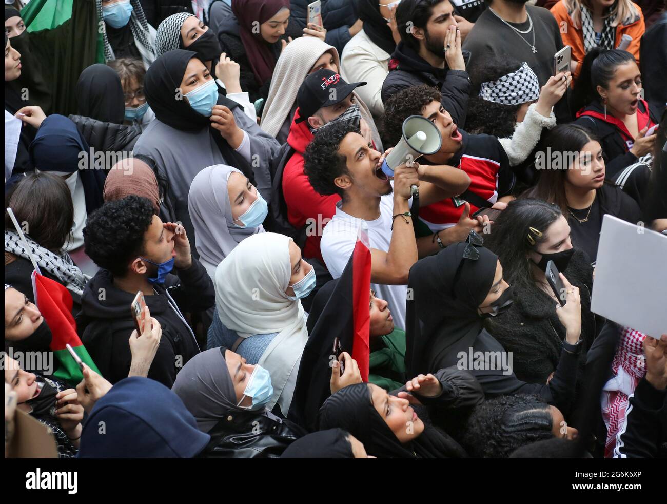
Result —
M 520 67 L 520 61 L 506 55 L 481 59 L 468 69 L 472 86 L 466 112 L 466 132 L 475 135 L 486 133 L 498 138 L 510 138 L 514 135 L 516 114 L 521 105 L 503 105 L 488 101 L 480 97 L 480 89 L 482 83 L 498 80 Z

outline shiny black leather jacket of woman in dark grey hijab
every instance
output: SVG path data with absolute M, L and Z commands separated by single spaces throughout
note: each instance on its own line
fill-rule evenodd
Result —
M 263 411 L 225 411 L 209 431 L 205 459 L 275 459 L 307 432 L 297 424 Z

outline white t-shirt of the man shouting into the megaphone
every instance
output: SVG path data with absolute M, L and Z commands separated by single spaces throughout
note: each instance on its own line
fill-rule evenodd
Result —
M 341 276 L 348 264 L 357 242 L 357 231 L 364 220 L 346 214 L 340 209 L 341 206 L 342 202 L 336 204 L 336 214 L 324 226 L 322 240 L 319 245 L 324 262 L 333 278 Z M 393 215 L 394 195 L 382 196 L 380 198 L 380 217 L 376 220 L 365 221 L 368 226 L 368 241 L 371 248 L 389 252 L 389 244 L 392 240 Z M 408 286 L 371 284 L 371 288 L 376 290 L 378 298 L 389 303 L 396 328 L 405 330 Z

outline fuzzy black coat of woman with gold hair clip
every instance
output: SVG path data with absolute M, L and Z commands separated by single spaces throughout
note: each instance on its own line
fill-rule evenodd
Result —
M 590 311 L 592 272 L 590 260 L 578 249 L 575 249 L 568 268 L 563 272 L 570 283 L 580 289 L 581 338 L 584 340 L 581 365 L 586 360 L 586 350 L 602 327 L 600 320 L 596 320 Z M 546 383 L 558 366 L 565 328 L 558 320 L 555 305 L 556 302 L 542 290 L 515 290 L 510 308 L 486 324 L 487 330 L 503 348 L 512 352 L 512 370 L 516 377 L 527 383 Z

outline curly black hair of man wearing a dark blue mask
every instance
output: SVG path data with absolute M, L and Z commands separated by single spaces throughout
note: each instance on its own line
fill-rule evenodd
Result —
M 83 228 L 85 253 L 114 276 L 127 274 L 129 262 L 143 253 L 143 236 L 153 222 L 148 198 L 126 196 L 103 204 Z

